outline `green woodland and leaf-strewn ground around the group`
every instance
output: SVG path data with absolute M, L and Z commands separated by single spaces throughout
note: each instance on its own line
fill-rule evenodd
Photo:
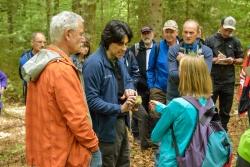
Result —
M 42 31 L 48 38 L 53 15 L 63 10 L 82 15 L 92 51 L 97 48 L 100 34 L 111 19 L 120 19 L 130 25 L 134 32 L 132 45 L 140 39 L 140 28 L 144 25 L 154 28 L 158 41 L 166 20 L 176 20 L 181 32 L 186 19 L 195 19 L 203 27 L 203 38 L 206 38 L 218 31 L 221 18 L 231 15 L 237 20 L 235 36 L 245 49 L 250 44 L 249 9 L 250 0 L 0 0 L 0 70 L 9 77 L 3 99 L 6 105 L 0 116 L 0 166 L 25 166 L 25 107 L 19 103 L 22 101 L 22 82 L 18 76 L 18 60 L 23 51 L 30 49 L 32 32 Z M 237 67 L 238 72 L 239 69 Z M 249 127 L 247 117 L 239 117 L 237 108 L 235 99 L 229 122 L 234 145 L 233 164 L 239 138 Z M 131 167 L 153 167 L 153 151 L 141 152 L 131 136 L 130 143 Z

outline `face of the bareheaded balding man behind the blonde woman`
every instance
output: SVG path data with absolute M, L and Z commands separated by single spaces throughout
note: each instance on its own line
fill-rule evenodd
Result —
M 197 24 L 193 22 L 187 22 L 183 25 L 182 36 L 186 44 L 192 44 L 198 37 L 198 27 Z

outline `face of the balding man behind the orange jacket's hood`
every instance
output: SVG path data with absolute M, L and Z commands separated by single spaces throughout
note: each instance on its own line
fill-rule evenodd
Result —
M 31 41 L 31 46 L 35 54 L 39 52 L 46 46 L 45 36 L 41 33 L 37 33 L 35 38 Z

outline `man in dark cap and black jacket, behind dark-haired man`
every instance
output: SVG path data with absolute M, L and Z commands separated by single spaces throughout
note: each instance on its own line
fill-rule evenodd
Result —
M 155 44 L 153 41 L 154 32 L 150 26 L 141 29 L 141 40 L 127 50 L 125 64 L 130 76 L 134 80 L 138 94 L 142 97 L 142 105 L 138 111 L 133 112 L 132 132 L 134 137 L 139 137 L 141 149 L 151 146 L 149 141 L 150 121 L 148 116 L 149 89 L 147 86 L 147 68 L 151 48 Z

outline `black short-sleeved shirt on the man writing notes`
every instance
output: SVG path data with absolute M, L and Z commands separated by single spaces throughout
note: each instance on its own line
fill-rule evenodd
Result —
M 220 33 L 216 33 L 207 38 L 205 44 L 212 49 L 213 57 L 217 57 L 220 51 L 226 57 L 243 58 L 241 43 L 235 37 L 223 38 Z M 211 76 L 216 85 L 234 83 L 234 65 L 213 64 Z

